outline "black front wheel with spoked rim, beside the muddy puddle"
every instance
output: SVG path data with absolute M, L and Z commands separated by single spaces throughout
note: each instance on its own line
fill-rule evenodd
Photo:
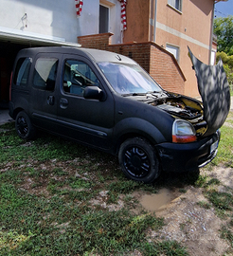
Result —
M 159 162 L 152 145 L 144 138 L 125 140 L 118 151 L 123 173 L 136 181 L 152 183 L 159 175 Z

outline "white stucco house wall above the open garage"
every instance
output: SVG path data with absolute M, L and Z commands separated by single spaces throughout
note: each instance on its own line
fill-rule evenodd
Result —
M 120 43 L 120 3 L 100 2 L 110 8 L 112 44 Z M 0 0 L 1 30 L 78 43 L 78 36 L 99 33 L 99 0 L 83 0 L 79 18 L 74 0 Z

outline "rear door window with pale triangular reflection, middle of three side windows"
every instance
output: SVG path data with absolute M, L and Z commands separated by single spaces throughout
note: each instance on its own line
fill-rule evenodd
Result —
M 56 82 L 58 59 L 39 58 L 33 75 L 33 86 L 42 90 L 53 91 Z

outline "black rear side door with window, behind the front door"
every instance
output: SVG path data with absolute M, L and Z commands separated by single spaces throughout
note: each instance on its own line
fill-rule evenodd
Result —
M 40 53 L 34 62 L 30 91 L 30 111 L 33 123 L 40 128 L 56 132 L 57 99 L 56 86 L 58 83 L 58 54 L 49 56 Z

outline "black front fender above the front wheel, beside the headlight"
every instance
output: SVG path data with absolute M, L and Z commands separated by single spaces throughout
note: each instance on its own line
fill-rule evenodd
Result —
M 171 141 L 173 118 L 144 102 L 116 96 L 116 125 L 114 137 L 126 133 L 141 134 L 152 144 Z

